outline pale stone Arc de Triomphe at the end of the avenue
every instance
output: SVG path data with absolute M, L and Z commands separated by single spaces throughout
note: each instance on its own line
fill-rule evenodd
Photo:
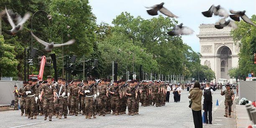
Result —
M 214 24 L 201 24 L 199 28 L 201 64 L 215 72 L 217 82 L 220 78 L 230 79 L 228 70 L 238 67 L 239 52 L 238 44 L 230 36 L 231 27 L 217 29 Z

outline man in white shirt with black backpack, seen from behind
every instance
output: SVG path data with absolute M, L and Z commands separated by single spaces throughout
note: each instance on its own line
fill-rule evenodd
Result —
M 208 124 L 212 124 L 212 94 L 213 90 L 210 88 L 210 82 L 206 83 L 206 87 L 203 90 L 204 96 L 204 110 L 205 110 L 205 122 Z M 209 121 L 208 116 L 209 114 Z

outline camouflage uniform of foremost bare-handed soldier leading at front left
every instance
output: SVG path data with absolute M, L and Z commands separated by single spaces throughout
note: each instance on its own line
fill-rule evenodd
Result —
M 44 91 L 44 115 L 45 120 L 47 116 L 49 116 L 49 120 L 51 120 L 51 117 L 53 115 L 54 110 L 54 92 L 56 92 L 54 88 L 54 84 L 51 82 L 51 84 L 44 84 L 42 87 L 42 91 Z

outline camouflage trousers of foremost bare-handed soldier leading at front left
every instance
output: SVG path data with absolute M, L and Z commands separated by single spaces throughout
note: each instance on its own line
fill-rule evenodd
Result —
M 54 110 L 54 97 L 44 97 L 44 115 L 52 117 Z

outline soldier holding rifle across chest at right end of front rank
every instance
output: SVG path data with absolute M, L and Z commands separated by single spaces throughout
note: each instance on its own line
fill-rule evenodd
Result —
M 134 88 L 134 81 L 129 81 L 129 86 L 125 90 L 125 95 L 127 95 L 127 105 L 128 105 L 128 115 L 135 114 L 135 99 L 138 97 L 137 89 Z

